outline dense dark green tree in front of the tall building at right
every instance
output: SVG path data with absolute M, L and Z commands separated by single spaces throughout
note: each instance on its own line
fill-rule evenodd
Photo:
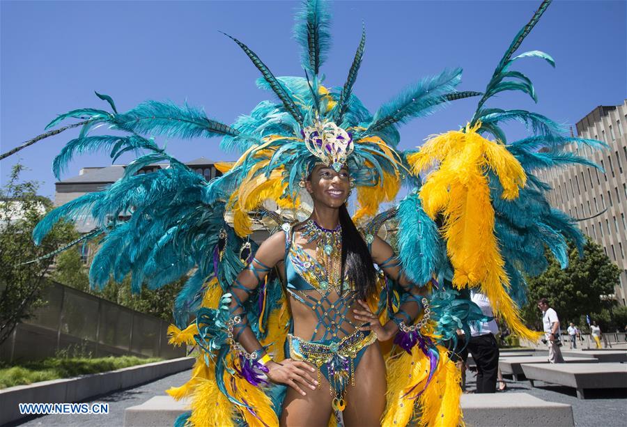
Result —
M 537 302 L 547 298 L 550 306 L 557 311 L 562 325 L 575 322 L 582 325 L 581 318 L 589 314 L 602 317 L 607 309 L 601 295 L 614 293 L 614 286 L 619 284 L 619 267 L 608 258 L 601 246 L 587 238 L 584 255 L 573 244 L 568 244 L 568 267 L 562 270 L 552 256 L 550 263 L 538 277 L 527 279 L 529 302 L 522 310 L 527 325 L 541 329 L 541 313 Z

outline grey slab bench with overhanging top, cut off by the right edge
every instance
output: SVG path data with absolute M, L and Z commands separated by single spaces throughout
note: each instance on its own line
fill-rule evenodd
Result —
M 522 364 L 522 372 L 532 387 L 534 381 L 573 387 L 580 399 L 585 389 L 627 388 L 627 364 L 621 363 Z

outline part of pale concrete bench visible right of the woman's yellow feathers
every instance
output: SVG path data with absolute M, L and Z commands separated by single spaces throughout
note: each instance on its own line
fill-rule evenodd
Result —
M 574 426 L 573 407 L 527 393 L 464 394 L 466 426 Z

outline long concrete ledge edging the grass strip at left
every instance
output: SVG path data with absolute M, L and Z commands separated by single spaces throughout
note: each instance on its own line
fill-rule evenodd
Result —
M 0 390 L 0 425 L 22 418 L 18 403 L 72 403 L 134 387 L 194 365 L 194 357 L 180 357 L 117 371 L 94 373 L 77 378 L 64 378 L 18 385 Z

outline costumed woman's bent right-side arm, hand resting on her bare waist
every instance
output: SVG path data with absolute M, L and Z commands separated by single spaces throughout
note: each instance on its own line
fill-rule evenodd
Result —
M 407 326 L 412 325 L 423 308 L 421 300 L 426 295 L 427 288 L 419 288 L 419 286 L 416 286 L 405 277 L 401 267 L 401 261 L 396 258 L 392 247 L 387 244 L 385 240 L 375 237 L 372 242 L 371 254 L 373 261 L 379 265 L 387 276 L 398 281 L 398 284 L 400 284 L 401 288 L 405 291 L 401 297 L 401 301 L 403 302 L 395 313 L 394 318 L 390 319 L 385 325 L 380 325 L 380 327 L 377 326 L 378 322 L 374 322 L 374 325 L 371 327 L 364 327 L 364 329 L 374 330 L 380 341 L 386 341 L 398 332 L 398 327 L 401 323 Z M 355 317 L 359 320 L 371 321 L 371 313 L 367 304 L 361 301 L 359 304 L 366 310 L 356 310 L 355 313 L 357 313 L 358 316 Z

